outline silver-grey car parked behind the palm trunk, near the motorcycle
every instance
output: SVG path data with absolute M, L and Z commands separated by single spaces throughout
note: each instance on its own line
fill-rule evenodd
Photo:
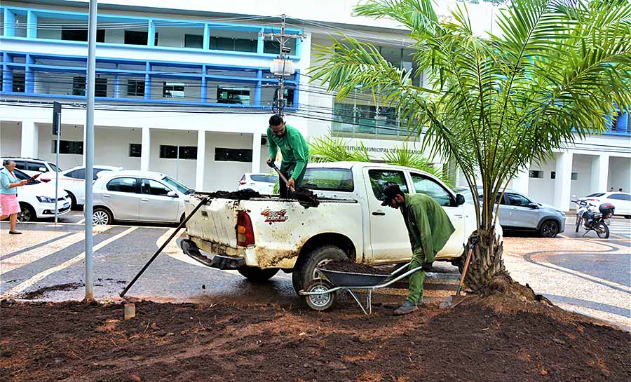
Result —
M 465 196 L 467 203 L 473 203 L 468 188 L 459 187 L 456 191 Z M 477 193 L 482 196 L 482 189 Z M 537 203 L 510 189 L 496 202 L 500 203 L 498 219 L 504 231 L 536 231 L 543 238 L 554 238 L 565 231 L 565 212 L 552 205 Z

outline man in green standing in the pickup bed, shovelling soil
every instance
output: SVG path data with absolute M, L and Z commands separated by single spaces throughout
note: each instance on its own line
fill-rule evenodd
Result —
M 285 124 L 283 117 L 275 114 L 269 118 L 267 128 L 269 138 L 269 159 L 267 164 L 272 165 L 276 161 L 276 153 L 280 149 L 283 161 L 280 163 L 280 172 L 287 178 L 287 185 L 280 182 L 278 191 L 281 198 L 287 198 L 287 188 L 294 191 L 302 185 L 302 178 L 309 162 L 309 146 L 302 134 L 290 125 Z

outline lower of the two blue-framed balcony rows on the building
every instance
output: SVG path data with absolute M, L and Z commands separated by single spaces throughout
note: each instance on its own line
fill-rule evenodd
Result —
M 86 57 L 1 52 L 1 94 L 86 99 Z M 97 57 L 95 97 L 102 101 L 270 109 L 278 79 L 268 67 L 118 60 Z M 299 73 L 285 81 L 297 109 Z

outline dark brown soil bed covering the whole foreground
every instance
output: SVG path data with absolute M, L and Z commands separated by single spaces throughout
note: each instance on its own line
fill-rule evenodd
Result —
M 0 381 L 630 380 L 629 333 L 484 301 L 402 317 L 137 302 L 126 321 L 121 304 L 2 301 Z

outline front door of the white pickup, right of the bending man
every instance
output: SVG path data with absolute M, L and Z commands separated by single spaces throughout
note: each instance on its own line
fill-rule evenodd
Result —
M 409 175 L 412 177 L 414 192 L 424 193 L 436 200 L 438 204 L 442 206 L 442 209 L 447 212 L 449 220 L 452 221 L 454 228 L 456 228 L 456 231 L 449 237 L 445 247 L 442 247 L 442 250 L 438 251 L 437 256 L 451 255 L 449 257 L 453 257 L 454 254 L 460 254 L 463 251 L 462 245 L 465 240 L 463 207 L 456 205 L 456 200 L 454 196 L 452 196 L 452 193 L 449 193 L 445 187 L 435 182 L 434 179 L 426 177 L 425 175 L 415 174 L 414 172 L 410 172 Z

